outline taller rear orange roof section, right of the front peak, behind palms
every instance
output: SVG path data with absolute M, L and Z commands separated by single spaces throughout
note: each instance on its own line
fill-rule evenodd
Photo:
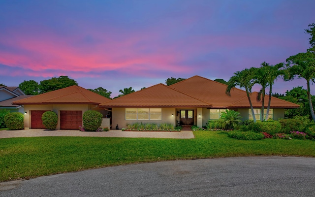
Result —
M 193 98 L 211 103 L 212 108 L 244 107 L 250 108 L 246 92 L 233 88 L 231 96 L 225 94 L 227 85 L 204 78 L 193 76 L 186 80 L 175 83 L 170 88 L 183 92 Z M 257 93 L 252 93 L 251 100 L 254 107 L 261 107 L 261 102 L 256 101 Z M 265 97 L 265 106 L 268 104 L 268 95 Z M 272 97 L 272 108 L 298 108 L 299 105 Z

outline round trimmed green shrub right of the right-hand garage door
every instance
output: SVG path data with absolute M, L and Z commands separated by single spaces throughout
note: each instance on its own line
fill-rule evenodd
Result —
M 89 110 L 83 114 L 83 126 L 85 131 L 96 131 L 102 124 L 103 115 L 98 111 Z

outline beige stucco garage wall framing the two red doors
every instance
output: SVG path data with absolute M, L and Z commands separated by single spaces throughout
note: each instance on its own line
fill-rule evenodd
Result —
M 88 110 L 100 110 L 97 105 L 89 105 L 89 104 L 26 104 L 24 105 L 24 128 L 29 129 L 31 128 L 31 111 L 32 110 L 48 110 L 54 111 L 58 115 L 58 125 L 57 130 L 60 129 L 60 111 L 82 111 L 82 114 Z M 83 123 L 82 123 L 83 125 Z

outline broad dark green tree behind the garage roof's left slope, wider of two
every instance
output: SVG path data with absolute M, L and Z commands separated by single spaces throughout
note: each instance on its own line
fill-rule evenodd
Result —
M 68 76 L 60 76 L 58 78 L 53 77 L 51 79 L 40 81 L 39 93 L 59 90 L 73 85 L 78 85 L 78 83 L 74 79 L 70 79 Z

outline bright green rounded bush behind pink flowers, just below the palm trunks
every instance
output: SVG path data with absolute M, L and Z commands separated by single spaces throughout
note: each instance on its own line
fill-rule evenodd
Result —
M 281 124 L 278 121 L 257 121 L 252 127 L 255 132 L 266 132 L 271 135 L 281 131 Z

